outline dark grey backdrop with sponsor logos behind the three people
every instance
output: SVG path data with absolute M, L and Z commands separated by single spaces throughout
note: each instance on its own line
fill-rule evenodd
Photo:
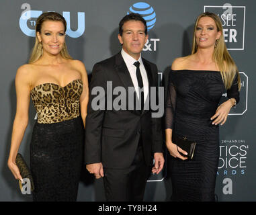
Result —
M 220 126 L 220 159 L 216 179 L 216 200 L 256 200 L 256 93 L 255 22 L 256 1 L 230 0 L 44 0 L 0 2 L 0 201 L 32 201 L 23 195 L 7 168 L 11 131 L 15 117 L 15 73 L 28 62 L 34 46 L 36 18 L 44 11 L 56 11 L 67 20 L 66 42 L 73 58 L 84 62 L 89 79 L 93 64 L 120 51 L 118 24 L 127 13 L 143 15 L 148 26 L 148 41 L 142 56 L 157 64 L 159 85 L 165 86 L 171 62 L 191 52 L 196 17 L 211 11 L 220 17 L 224 40 L 239 68 L 241 101 Z M 226 93 L 223 94 L 223 99 Z M 19 148 L 29 162 L 29 146 L 36 111 L 30 104 L 30 123 Z M 69 184 L 67 184 L 69 186 Z M 145 201 L 169 201 L 171 178 L 166 166 L 159 175 L 151 175 Z M 102 179 L 95 180 L 84 168 L 78 201 L 105 201 Z

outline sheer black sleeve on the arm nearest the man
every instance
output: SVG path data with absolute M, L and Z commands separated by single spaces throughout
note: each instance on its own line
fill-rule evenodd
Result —
M 167 88 L 167 99 L 165 102 L 165 129 L 173 129 L 173 120 L 176 107 L 176 89 L 173 84 L 173 71 L 169 74 L 168 88 Z

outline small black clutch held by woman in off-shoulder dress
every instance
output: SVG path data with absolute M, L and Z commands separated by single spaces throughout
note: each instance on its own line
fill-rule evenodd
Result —
M 188 159 L 193 159 L 196 148 L 196 142 L 194 140 L 188 140 L 186 136 L 181 137 L 175 134 L 172 135 L 172 139 L 173 143 L 187 152 L 187 155 L 183 155 L 183 153 L 179 152 L 177 147 L 179 154 L 181 154 L 183 157 L 187 157 Z

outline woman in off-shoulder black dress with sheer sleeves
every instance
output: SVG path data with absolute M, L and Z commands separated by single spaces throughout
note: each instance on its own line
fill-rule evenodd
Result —
M 239 102 L 239 71 L 226 50 L 220 19 L 196 19 L 191 55 L 176 58 L 169 73 L 165 108 L 167 168 L 173 201 L 214 201 L 219 158 L 219 125 Z M 219 104 L 224 92 L 228 99 Z M 172 135 L 197 142 L 193 159 L 172 142 Z

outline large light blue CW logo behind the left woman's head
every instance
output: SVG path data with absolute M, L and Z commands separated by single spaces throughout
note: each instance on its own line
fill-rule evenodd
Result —
M 33 10 L 25 10 L 21 17 L 19 18 L 19 28 L 26 34 L 27 36 L 36 36 L 36 31 L 28 28 L 28 20 L 31 18 L 37 18 L 42 14 L 42 11 L 33 11 Z M 70 24 L 70 12 L 63 11 L 63 17 L 65 17 L 67 21 L 67 32 L 66 34 L 69 35 L 71 38 L 78 38 L 79 36 L 83 35 L 85 32 L 85 13 L 78 12 L 77 13 L 77 30 L 71 30 Z M 36 26 L 36 22 L 34 20 L 30 20 L 32 26 Z

